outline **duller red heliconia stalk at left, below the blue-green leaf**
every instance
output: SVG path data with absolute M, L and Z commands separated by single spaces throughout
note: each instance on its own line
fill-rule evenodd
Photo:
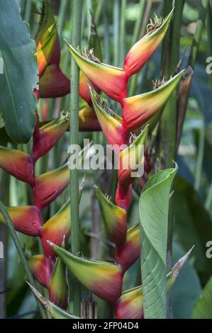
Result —
M 67 284 L 65 267 L 47 240 L 62 245 L 67 241 L 70 230 L 69 201 L 58 213 L 43 224 L 41 213 L 69 184 L 69 169 L 67 164 L 47 174 L 35 177 L 35 162 L 57 143 L 67 130 L 69 120 L 62 117 L 40 128 L 39 117 L 33 135 L 31 154 L 25 154 L 16 149 L 0 147 L 0 165 L 9 174 L 21 181 L 27 182 L 33 191 L 34 204 L 23 207 L 9 207 L 8 212 L 15 229 L 26 235 L 40 237 L 44 254 L 28 257 L 30 270 L 35 278 L 48 288 L 50 300 L 61 307 L 67 307 Z M 0 222 L 4 218 L 0 215 Z

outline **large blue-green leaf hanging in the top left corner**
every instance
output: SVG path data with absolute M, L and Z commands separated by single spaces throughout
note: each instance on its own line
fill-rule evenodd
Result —
M 0 0 L 0 51 L 4 74 L 0 74 L 0 107 L 6 131 L 14 142 L 30 140 L 35 126 L 38 81 L 35 42 L 21 20 L 18 1 Z

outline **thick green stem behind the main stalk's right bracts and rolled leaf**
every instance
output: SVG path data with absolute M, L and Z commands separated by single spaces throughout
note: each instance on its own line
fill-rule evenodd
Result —
M 164 1 L 163 16 L 172 10 L 172 1 Z M 169 28 L 162 45 L 162 76 L 169 79 L 174 74 L 179 62 L 180 30 L 184 0 L 175 1 L 175 11 L 172 25 Z M 169 98 L 160 120 L 160 168 L 173 166 L 176 152 L 177 137 L 177 91 Z M 167 235 L 167 270 L 172 268 L 172 234 L 174 222 L 174 201 L 169 203 L 169 221 Z M 169 317 L 169 297 L 167 302 L 167 317 Z

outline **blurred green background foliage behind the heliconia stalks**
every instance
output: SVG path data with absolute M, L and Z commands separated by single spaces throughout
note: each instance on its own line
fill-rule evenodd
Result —
M 164 10 L 163 0 L 84 0 L 82 17 L 82 48 L 87 47 L 90 37 L 91 9 L 101 40 L 103 60 L 106 63 L 122 67 L 123 59 L 131 45 L 144 35 L 145 27 L 150 18 L 157 13 L 161 16 Z M 170 1 L 172 2 L 172 1 Z M 72 0 L 51 0 L 52 10 L 57 17 L 57 28 L 60 35 L 61 67 L 69 77 L 71 57 L 63 38 L 70 41 L 72 33 Z M 189 61 L 191 44 L 199 18 L 201 0 L 186 0 L 180 30 L 180 53 L 183 57 L 182 68 Z M 30 25 L 32 38 L 39 26 L 40 0 L 20 0 L 21 16 Z M 179 173 L 175 185 L 174 197 L 174 247 L 173 261 L 187 252 L 193 244 L 194 251 L 191 261 L 187 262 L 177 282 L 172 288 L 172 317 L 189 318 L 202 288 L 212 274 L 212 259 L 206 258 L 206 242 L 212 240 L 212 74 L 206 73 L 206 58 L 212 57 L 212 13 L 207 13 L 206 25 L 201 33 L 201 44 L 194 70 L 194 79 L 186 110 L 186 118 L 182 140 L 179 146 L 177 163 Z M 147 63 L 141 73 L 130 81 L 130 94 L 152 90 L 152 80 L 161 77 L 162 46 Z M 60 115 L 60 111 L 68 111 L 69 96 L 56 99 L 40 99 L 38 112 L 43 120 L 50 120 Z M 118 105 L 112 103 L 114 111 Z M 37 172 L 53 169 L 61 165 L 67 158 L 68 133 L 47 156 L 40 159 Z M 102 140 L 101 133 L 81 132 L 91 140 Z M 4 128 L 0 129 L 0 144 L 10 145 Z M 19 147 L 28 151 L 30 143 Z M 4 171 L 1 173 L 1 200 L 5 205 L 24 205 L 30 203 L 30 190 L 26 184 L 16 181 Z M 82 174 L 83 176 L 83 174 Z M 115 179 L 116 180 L 116 179 Z M 95 259 L 111 260 L 113 247 L 105 242 L 104 230 L 99 220 L 101 215 L 94 198 L 93 184 L 100 181 L 106 193 L 113 193 L 113 175 L 106 172 L 89 171 L 86 176 L 84 192 L 80 203 L 81 244 L 84 256 Z M 9 184 L 9 186 L 8 186 Z M 59 209 L 68 197 L 68 190 L 52 203 L 50 210 L 45 211 L 46 217 Z M 139 220 L 138 198 L 130 208 L 130 225 Z M 96 223 L 98 221 L 98 223 Z M 96 236 L 97 235 L 97 236 Z M 38 252 L 38 239 L 19 234 L 23 247 L 31 252 Z M 6 227 L 0 226 L 0 239 L 4 242 L 6 259 L 0 261 L 0 317 L 33 318 L 38 315 L 35 299 L 26 286 L 21 261 L 9 237 Z M 140 281 L 137 273 L 138 262 L 125 274 L 124 288 L 135 286 Z M 39 287 L 40 288 L 40 287 Z M 104 302 L 99 310 L 103 316 Z

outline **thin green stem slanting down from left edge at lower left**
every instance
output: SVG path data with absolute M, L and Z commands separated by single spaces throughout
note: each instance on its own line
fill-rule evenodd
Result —
M 24 268 L 24 271 L 25 271 L 26 276 L 28 278 L 28 281 L 30 282 L 30 284 L 32 286 L 35 286 L 35 281 L 34 281 L 33 275 L 30 272 L 30 269 L 28 267 L 28 263 L 27 263 L 27 260 L 26 260 L 26 256 L 23 253 L 23 249 L 22 249 L 21 244 L 19 242 L 18 236 L 16 235 L 16 231 L 14 230 L 13 222 L 11 221 L 11 218 L 9 217 L 9 214 L 7 213 L 6 208 L 4 207 L 4 205 L 1 201 L 0 201 L 0 211 L 1 211 L 1 214 L 4 216 L 4 220 L 6 222 L 7 227 L 9 228 L 9 232 L 10 232 L 11 237 L 13 239 L 13 242 L 16 246 L 18 256 L 20 257 L 21 262 L 23 264 L 23 268 Z M 40 302 L 37 299 L 36 299 L 36 302 L 38 304 L 38 309 L 40 310 L 41 317 L 43 319 L 45 319 L 46 316 L 45 316 L 45 310 L 43 309 L 43 305 L 41 305 Z

